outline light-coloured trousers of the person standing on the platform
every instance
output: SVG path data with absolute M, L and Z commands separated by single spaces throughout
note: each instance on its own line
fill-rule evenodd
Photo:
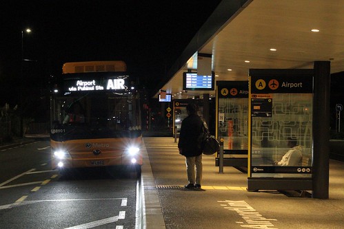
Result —
M 202 155 L 196 157 L 185 157 L 186 171 L 188 173 L 189 184 L 201 184 L 202 180 Z M 195 182 L 195 169 L 196 166 L 196 182 Z

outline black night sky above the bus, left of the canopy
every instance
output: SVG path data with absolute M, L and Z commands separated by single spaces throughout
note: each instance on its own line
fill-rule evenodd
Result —
M 23 38 L 23 58 L 32 60 L 23 65 L 29 92 L 44 94 L 65 62 L 122 60 L 154 93 L 219 2 L 1 1 L 0 106 L 17 102 L 25 28 L 32 30 Z

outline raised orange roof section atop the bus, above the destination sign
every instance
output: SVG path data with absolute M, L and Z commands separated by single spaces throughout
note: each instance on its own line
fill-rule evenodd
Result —
M 124 61 L 85 61 L 64 63 L 62 74 L 82 72 L 126 72 Z

